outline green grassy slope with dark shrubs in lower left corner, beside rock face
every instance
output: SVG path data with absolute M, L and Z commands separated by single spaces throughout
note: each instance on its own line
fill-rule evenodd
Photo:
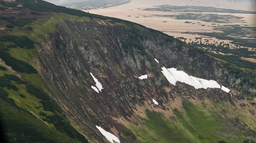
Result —
M 0 122 L 7 142 L 87 143 L 43 90 L 0 66 Z

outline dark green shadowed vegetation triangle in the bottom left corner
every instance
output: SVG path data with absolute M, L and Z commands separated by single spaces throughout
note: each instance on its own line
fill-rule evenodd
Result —
M 0 91 L 2 88 L 0 88 Z M 4 132 L 5 140 L 9 143 L 78 143 L 55 128 L 50 128 L 35 116 L 15 108 L 6 101 L 0 99 L 1 132 Z M 71 126 L 72 127 L 72 126 Z M 86 142 L 86 139 L 82 140 Z

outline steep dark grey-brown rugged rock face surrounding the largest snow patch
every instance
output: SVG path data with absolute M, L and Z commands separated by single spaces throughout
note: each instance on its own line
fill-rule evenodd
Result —
M 180 82 L 173 86 L 161 73 L 163 66 L 175 67 L 191 76 L 237 86 L 234 76 L 228 76 L 228 69 L 215 59 L 164 34 L 127 26 L 99 20 L 58 21 L 58 32 L 48 34 L 37 46 L 40 73 L 48 91 L 91 141 L 103 141 L 97 125 L 116 128 L 116 135 L 125 142 L 120 134 L 123 125 L 114 118 L 129 121 L 137 105 L 169 110 L 177 96 L 224 100 L 234 105 L 230 94 L 221 89 L 196 90 Z M 102 84 L 102 92 L 91 88 L 95 82 L 90 73 Z M 133 76 L 145 74 L 148 79 Z M 236 89 L 241 90 L 238 86 Z

